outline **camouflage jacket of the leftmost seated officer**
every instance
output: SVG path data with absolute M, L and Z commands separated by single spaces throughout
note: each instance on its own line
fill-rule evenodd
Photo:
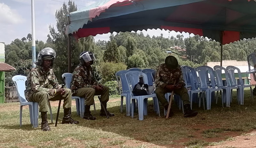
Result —
M 49 69 L 44 71 L 42 66 L 32 68 L 27 76 L 28 87 L 25 90 L 25 97 L 29 101 L 29 95 L 33 92 L 46 91 L 50 96 L 55 93 L 54 89 L 61 88 L 57 78 L 55 77 L 53 70 Z M 52 85 L 54 89 L 49 89 L 48 86 Z

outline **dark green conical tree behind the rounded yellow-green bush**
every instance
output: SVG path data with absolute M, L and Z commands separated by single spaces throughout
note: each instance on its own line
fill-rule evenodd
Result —
M 106 50 L 104 53 L 104 61 L 115 62 L 115 63 L 120 61 L 120 53 L 117 49 L 117 44 L 113 39 L 111 41 L 108 41 L 106 45 Z

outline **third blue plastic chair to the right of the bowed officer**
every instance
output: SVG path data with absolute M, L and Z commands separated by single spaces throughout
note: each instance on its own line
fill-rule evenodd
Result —
M 226 107 L 230 107 L 230 100 L 232 97 L 232 89 L 237 89 L 237 100 L 239 102 L 239 91 L 238 91 L 238 86 L 232 86 L 230 83 L 230 77 L 229 77 L 229 73 L 227 71 L 227 69 L 225 69 L 222 66 L 214 66 L 214 70 L 216 72 L 216 76 L 217 76 L 217 81 L 218 81 L 218 88 L 222 88 L 222 92 L 223 92 L 223 101 L 224 103 L 226 102 Z M 223 85 L 223 81 L 222 81 L 222 71 L 225 71 L 225 77 L 226 77 L 226 82 L 227 82 L 227 86 Z M 217 104 L 217 100 L 216 99 L 216 104 Z

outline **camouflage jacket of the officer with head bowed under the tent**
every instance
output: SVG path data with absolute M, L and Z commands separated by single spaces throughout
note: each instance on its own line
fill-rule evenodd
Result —
M 156 68 L 155 78 L 156 78 L 155 83 L 157 87 L 160 86 L 162 88 L 165 88 L 165 86 L 168 84 L 173 85 L 175 79 L 176 79 L 176 84 L 180 83 L 182 84 L 182 86 L 185 86 L 180 66 L 178 66 L 176 69 L 172 71 L 169 71 L 166 68 L 166 64 L 163 63 Z

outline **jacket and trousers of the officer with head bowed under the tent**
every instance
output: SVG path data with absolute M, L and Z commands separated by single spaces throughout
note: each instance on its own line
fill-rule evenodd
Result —
M 158 100 L 161 102 L 163 106 L 168 104 L 168 101 L 165 98 L 165 94 L 171 92 L 171 90 L 167 90 L 165 88 L 166 85 L 173 85 L 176 80 L 176 84 L 182 84 L 181 89 L 174 89 L 174 93 L 181 96 L 183 100 L 183 105 L 190 104 L 189 96 L 187 93 L 187 89 L 184 87 L 184 79 L 181 71 L 181 67 L 178 67 L 172 71 L 169 71 L 166 67 L 166 64 L 163 63 L 156 68 L 156 95 Z

